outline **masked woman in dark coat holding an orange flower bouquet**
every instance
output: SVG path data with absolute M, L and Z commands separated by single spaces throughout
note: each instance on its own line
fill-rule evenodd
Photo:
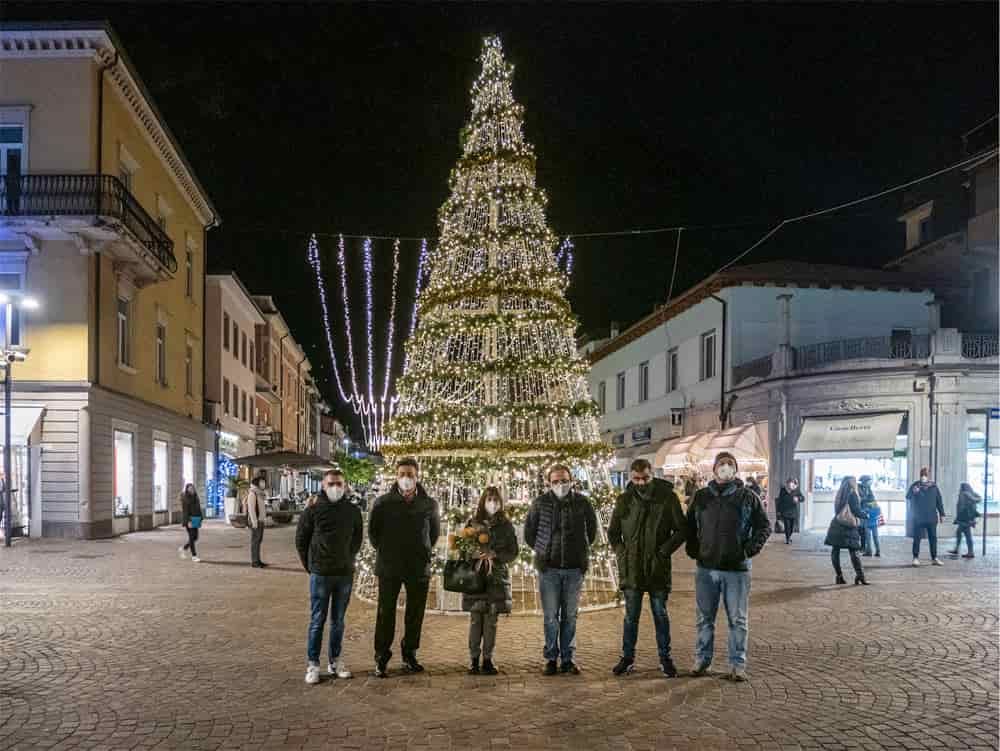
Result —
M 479 566 L 486 576 L 486 591 L 463 594 L 462 610 L 469 613 L 469 674 L 496 675 L 493 663 L 497 643 L 497 621 L 514 606 L 508 564 L 517 558 L 517 534 L 505 511 L 503 495 L 496 486 L 486 488 L 475 515 L 466 522 L 481 544 Z M 485 539 L 485 542 L 484 542 Z M 483 658 L 480 669 L 479 658 Z

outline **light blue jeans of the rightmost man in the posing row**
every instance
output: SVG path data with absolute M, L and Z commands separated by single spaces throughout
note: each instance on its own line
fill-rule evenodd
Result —
M 694 578 L 694 601 L 698 614 L 695 660 L 711 664 L 715 653 L 715 615 L 719 599 L 729 621 L 729 664 L 743 667 L 747 662 L 747 608 L 750 602 L 749 571 L 716 571 L 698 566 Z

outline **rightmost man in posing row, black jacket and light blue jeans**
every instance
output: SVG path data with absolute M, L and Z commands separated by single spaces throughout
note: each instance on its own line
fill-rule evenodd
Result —
M 760 497 L 737 478 L 736 458 L 715 457 L 715 479 L 688 506 L 687 554 L 698 561 L 695 607 L 698 637 L 693 675 L 705 675 L 715 652 L 719 599 L 729 620 L 730 677 L 745 681 L 750 603 L 750 559 L 764 548 L 771 524 Z

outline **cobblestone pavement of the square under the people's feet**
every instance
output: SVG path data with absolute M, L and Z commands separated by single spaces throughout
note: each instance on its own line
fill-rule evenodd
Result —
M 183 536 L 0 549 L 0 749 L 998 746 L 995 542 L 985 559 L 913 569 L 908 541 L 890 539 L 864 559 L 873 586 L 835 587 L 822 538 L 775 536 L 755 562 L 745 684 L 664 679 L 648 612 L 640 670 L 615 678 L 619 610 L 581 615 L 578 677 L 539 674 L 537 616 L 501 619 L 501 675 L 469 677 L 466 618 L 428 616 L 427 672 L 377 680 L 374 609 L 355 600 L 345 657 L 357 677 L 306 686 L 308 580 L 292 529 L 267 531 L 267 570 L 246 565 L 244 530 L 208 524 L 200 564 L 178 559 Z M 674 654 L 687 668 L 692 566 L 674 560 Z M 717 644 L 721 670 L 724 625 Z

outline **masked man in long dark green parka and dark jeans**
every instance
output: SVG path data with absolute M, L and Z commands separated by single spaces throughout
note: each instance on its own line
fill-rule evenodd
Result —
M 608 542 L 618 560 L 618 583 L 625 599 L 622 654 L 612 672 L 627 675 L 635 669 L 642 598 L 648 594 L 660 672 L 667 678 L 676 678 L 677 668 L 670 654 L 667 598 L 671 587 L 670 558 L 684 544 L 687 523 L 673 485 L 654 478 L 648 461 L 632 462 L 629 476 L 631 481 L 615 502 L 608 529 Z

